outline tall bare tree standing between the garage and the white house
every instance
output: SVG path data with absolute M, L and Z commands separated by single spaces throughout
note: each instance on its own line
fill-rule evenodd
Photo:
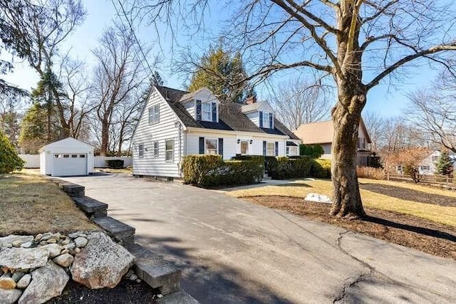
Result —
M 138 102 L 135 92 L 146 84 L 147 70 L 142 64 L 144 58 L 140 57 L 136 47 L 133 31 L 116 23 L 104 31 L 100 46 L 93 51 L 98 61 L 92 84 L 93 107 L 96 112 L 93 128 L 99 131 L 97 135 L 101 155 L 110 152 L 110 142 L 114 140 L 110 136 L 113 126 L 118 125 L 118 120 L 127 119 L 115 117 L 116 114 L 119 111 L 123 113 L 123 110 L 134 112 L 139 108 L 132 109 L 132 105 Z M 130 119 L 133 112 L 123 114 Z M 122 130 L 126 131 L 125 128 Z M 123 137 L 120 145 L 125 141 L 125 136 Z

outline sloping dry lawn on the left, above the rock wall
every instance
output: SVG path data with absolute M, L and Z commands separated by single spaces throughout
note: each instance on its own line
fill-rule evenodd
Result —
M 0 175 L 0 236 L 93 229 L 56 184 L 31 174 Z

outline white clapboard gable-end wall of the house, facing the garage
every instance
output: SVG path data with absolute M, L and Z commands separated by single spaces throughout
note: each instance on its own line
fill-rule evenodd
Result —
M 160 122 L 149 125 L 147 113 L 153 105 L 160 104 Z M 179 135 L 180 124 L 175 112 L 154 89 L 140 117 L 133 137 L 133 174 L 180 177 L 180 155 L 184 152 L 183 130 Z M 165 161 L 165 141 L 174 140 L 174 160 Z M 154 157 L 154 142 L 158 141 L 158 157 Z M 138 145 L 144 145 L 144 157 L 139 158 Z M 180 151 L 180 152 L 179 152 Z

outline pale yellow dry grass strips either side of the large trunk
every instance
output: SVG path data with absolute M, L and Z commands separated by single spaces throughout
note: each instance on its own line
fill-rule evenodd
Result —
M 378 181 L 370 180 L 375 183 Z M 366 182 L 366 181 L 361 181 Z M 384 182 L 384 181 L 380 181 Z M 400 183 L 397 183 L 400 184 Z M 429 189 L 423 187 L 424 189 Z M 432 189 L 438 190 L 438 189 Z M 442 190 L 440 190 L 442 191 Z M 309 193 L 318 193 L 331 196 L 331 182 L 328 180 L 298 180 L 284 185 L 270 185 L 251 189 L 240 189 L 227 194 L 235 197 L 248 196 L 294 196 L 305 197 Z M 425 195 L 423 192 L 422 195 Z M 378 194 L 375 192 L 361 189 L 363 206 L 367 208 L 394 211 L 400 214 L 417 216 L 421 219 L 435 221 L 436 223 L 449 226 L 456 226 L 456 207 L 437 206 L 435 204 L 425 204 L 417 201 L 398 199 L 397 197 Z

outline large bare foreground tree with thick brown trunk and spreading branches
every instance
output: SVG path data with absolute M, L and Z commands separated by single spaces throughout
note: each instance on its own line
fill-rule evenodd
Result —
M 157 17 L 162 14 L 182 14 L 189 7 L 198 13 L 210 4 L 209 0 L 132 1 L 133 7 L 142 9 L 152 22 L 162 20 Z M 330 75 L 336 83 L 337 100 L 331 111 L 335 122 L 331 214 L 365 216 L 355 157 L 367 93 L 380 82 L 392 80 L 390 76 L 400 76 L 394 72 L 413 62 L 429 61 L 452 68 L 447 57 L 447 51 L 456 50 L 456 14 L 451 1 L 227 2 L 230 5 L 226 7 L 237 13 L 229 19 L 225 36 L 247 56 L 244 61 L 254 70 L 247 80 L 268 78 L 280 70 L 309 68 Z

